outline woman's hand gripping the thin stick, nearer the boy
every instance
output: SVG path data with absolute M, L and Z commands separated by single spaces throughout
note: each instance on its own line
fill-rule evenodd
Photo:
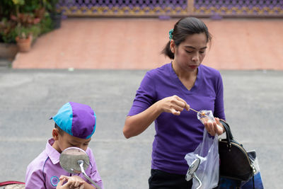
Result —
M 187 111 L 190 110 L 190 105 L 176 95 L 163 98 L 156 103 L 162 112 L 172 113 L 173 115 L 180 115 L 184 108 Z

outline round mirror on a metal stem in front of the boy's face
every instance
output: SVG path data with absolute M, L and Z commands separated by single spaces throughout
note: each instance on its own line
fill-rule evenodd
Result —
M 101 189 L 91 178 L 86 175 L 86 168 L 89 166 L 89 157 L 86 151 L 76 147 L 64 149 L 59 158 L 60 166 L 69 173 L 83 173 L 83 176 L 90 181 L 96 188 Z

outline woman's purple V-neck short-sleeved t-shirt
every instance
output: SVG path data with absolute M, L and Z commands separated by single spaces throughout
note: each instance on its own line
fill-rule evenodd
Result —
M 195 110 L 212 110 L 214 117 L 225 120 L 221 75 L 202 64 L 190 91 L 175 74 L 171 63 L 147 71 L 128 115 L 137 115 L 156 101 L 173 95 L 183 98 Z M 192 110 L 183 110 L 179 116 L 161 113 L 154 122 L 156 135 L 151 168 L 185 174 L 188 168 L 185 154 L 202 142 L 204 125 L 197 120 L 197 113 Z

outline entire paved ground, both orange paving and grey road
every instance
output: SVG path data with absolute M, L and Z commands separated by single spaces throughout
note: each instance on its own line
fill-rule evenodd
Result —
M 175 21 L 67 19 L 19 53 L 14 69 L 0 67 L 0 181 L 24 181 L 51 136 L 48 118 L 76 101 L 96 110 L 90 147 L 105 188 L 147 188 L 154 128 L 125 139 L 122 127 L 146 69 L 169 62 L 159 52 Z M 283 21 L 204 22 L 214 35 L 204 64 L 221 69 L 233 135 L 258 152 L 265 188 L 282 188 Z

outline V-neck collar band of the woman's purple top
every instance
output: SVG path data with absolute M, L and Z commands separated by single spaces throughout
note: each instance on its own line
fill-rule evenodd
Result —
M 195 84 L 194 86 L 192 86 L 192 88 L 187 89 L 187 87 L 184 86 L 184 84 L 182 83 L 182 81 L 180 81 L 179 77 L 177 76 L 177 74 L 175 73 L 173 67 L 172 67 L 172 62 L 170 63 L 170 71 L 171 71 L 171 76 L 173 78 L 173 80 L 175 81 L 175 83 L 178 85 L 178 86 L 182 86 L 180 88 L 181 91 L 183 91 L 184 93 L 186 94 L 190 94 L 192 92 L 195 92 L 197 91 L 197 89 L 199 88 L 200 86 L 200 78 L 201 78 L 201 74 L 202 74 L 202 71 L 201 71 L 201 67 L 202 67 L 202 64 L 200 64 L 199 67 L 197 67 L 197 79 L 195 79 Z

